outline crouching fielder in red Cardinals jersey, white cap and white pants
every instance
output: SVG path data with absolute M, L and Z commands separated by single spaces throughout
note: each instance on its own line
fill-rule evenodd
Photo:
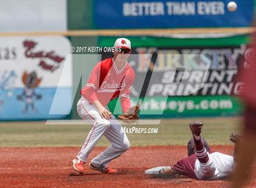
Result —
M 84 173 L 84 164 L 88 155 L 102 135 L 111 145 L 90 162 L 89 167 L 93 170 L 115 174 L 117 170 L 107 164 L 130 147 L 126 134 L 121 132 L 121 124 L 108 110 L 107 104 L 119 97 L 123 112 L 127 112 L 130 108 L 130 89 L 135 79 L 132 67 L 127 64 L 131 45 L 129 39 L 118 38 L 114 47 L 117 49 L 114 57 L 96 64 L 77 102 L 80 118 L 93 126 L 80 152 L 73 159 L 73 168 L 79 173 Z

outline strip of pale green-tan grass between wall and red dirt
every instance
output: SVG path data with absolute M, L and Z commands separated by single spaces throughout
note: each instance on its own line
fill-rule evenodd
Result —
M 158 133 L 127 133 L 132 146 L 186 145 L 191 138 L 188 123 L 204 122 L 202 135 L 209 144 L 232 144 L 229 135 L 239 132 L 241 119 L 236 118 L 182 118 L 163 119 L 157 126 Z M 132 127 L 132 126 L 125 126 Z M 82 146 L 88 135 L 89 125 L 46 125 L 44 121 L 0 122 L 0 147 L 64 147 Z M 97 146 L 108 146 L 102 136 Z

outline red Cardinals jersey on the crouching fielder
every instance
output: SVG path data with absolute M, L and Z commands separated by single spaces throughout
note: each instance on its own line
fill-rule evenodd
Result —
M 98 99 L 102 106 L 107 106 L 109 101 L 119 96 L 123 112 L 127 112 L 134 80 L 135 73 L 127 62 L 118 69 L 113 58 L 108 58 L 96 64 L 80 93 L 90 104 Z

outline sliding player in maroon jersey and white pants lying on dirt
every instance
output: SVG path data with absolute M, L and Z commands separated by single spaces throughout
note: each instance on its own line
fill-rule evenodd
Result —
M 193 134 L 193 146 L 188 147 L 188 157 L 181 159 L 172 166 L 155 167 L 145 174 L 186 175 L 199 180 L 217 180 L 229 176 L 236 166 L 237 144 L 240 136 L 232 133 L 230 140 L 235 143 L 233 156 L 219 152 L 210 152 L 208 144 L 201 138 L 202 122 L 190 123 Z M 189 146 L 190 142 L 188 143 Z M 206 146 L 206 147 L 205 147 Z

